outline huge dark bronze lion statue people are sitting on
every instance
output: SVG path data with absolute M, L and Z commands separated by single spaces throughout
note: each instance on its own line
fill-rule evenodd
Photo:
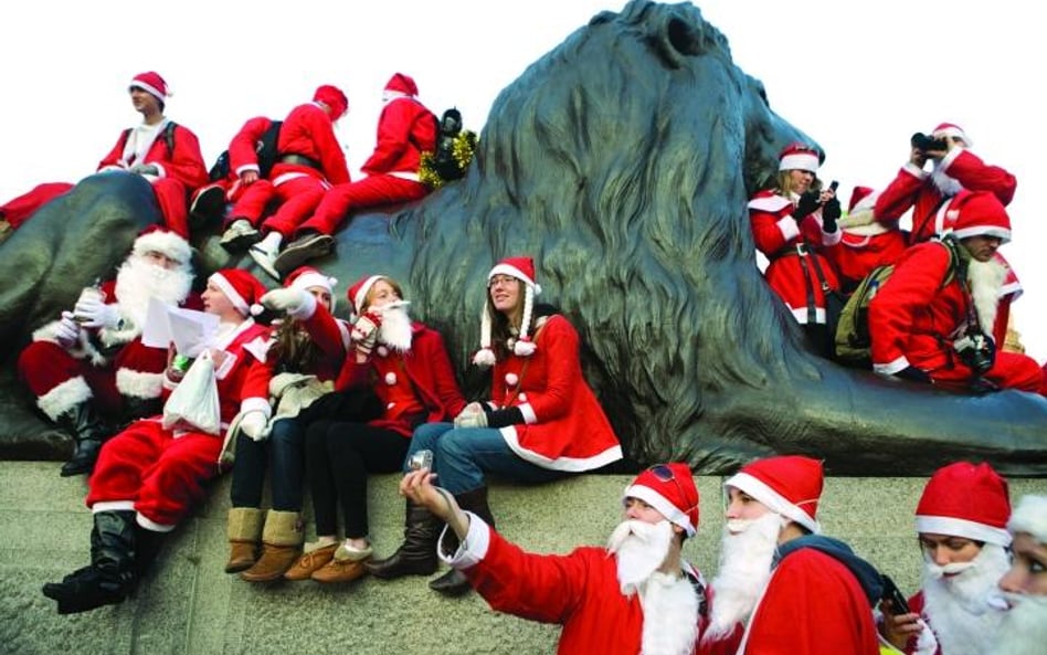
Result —
M 488 382 L 467 363 L 486 272 L 532 255 L 542 299 L 578 327 L 586 376 L 638 463 L 722 474 L 802 453 L 834 475 L 922 476 L 958 458 L 1047 473 L 1043 398 L 955 395 L 804 350 L 757 268 L 745 209 L 796 139 L 812 140 L 774 114 L 697 8 L 634 0 L 501 92 L 464 179 L 396 213 L 352 218 L 316 264 L 347 286 L 370 273 L 404 283 L 479 394 Z M 0 246 L 12 285 L 4 385 L 13 348 L 112 270 L 156 213 L 136 184 L 92 179 Z M 250 264 L 230 262 L 214 235 L 197 245 L 204 272 Z M 4 398 L 6 456 L 61 443 L 24 398 Z

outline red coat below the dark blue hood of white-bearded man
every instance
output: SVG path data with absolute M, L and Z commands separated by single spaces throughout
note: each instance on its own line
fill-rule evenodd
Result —
M 774 569 L 742 640 L 738 655 L 879 653 L 872 611 L 858 580 L 814 548 L 792 552 Z

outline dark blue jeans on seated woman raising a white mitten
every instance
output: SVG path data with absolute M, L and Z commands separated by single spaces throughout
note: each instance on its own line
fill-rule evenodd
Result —
M 236 463 L 230 500 L 233 507 L 261 507 L 266 468 L 273 492 L 273 509 L 302 509 L 302 476 L 305 463 L 305 425 L 298 419 L 273 423 L 268 439 L 254 441 L 242 432 L 236 436 Z

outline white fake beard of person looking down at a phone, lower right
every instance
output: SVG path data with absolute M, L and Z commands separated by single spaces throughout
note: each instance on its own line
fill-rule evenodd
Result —
M 984 654 L 996 642 L 1001 615 L 990 599 L 1009 568 L 1006 551 L 995 543 L 984 545 L 970 562 L 942 567 L 924 562 L 923 614 L 942 653 Z

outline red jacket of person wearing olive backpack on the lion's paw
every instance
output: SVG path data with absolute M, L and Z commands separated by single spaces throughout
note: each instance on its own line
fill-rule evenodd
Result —
M 906 251 L 890 278 L 869 302 L 872 368 L 893 374 L 914 366 L 934 371 L 950 366 L 952 340 L 966 325 L 970 297 L 939 242 Z

